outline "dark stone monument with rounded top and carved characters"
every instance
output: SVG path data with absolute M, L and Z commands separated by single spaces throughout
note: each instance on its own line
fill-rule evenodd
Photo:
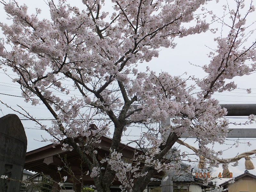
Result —
M 20 192 L 23 167 L 27 151 L 27 137 L 17 115 L 9 114 L 0 118 L 0 179 L 1 192 Z

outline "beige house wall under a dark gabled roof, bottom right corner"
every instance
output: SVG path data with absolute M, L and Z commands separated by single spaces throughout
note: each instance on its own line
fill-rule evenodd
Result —
M 256 179 L 250 176 L 244 176 L 234 183 L 228 185 L 228 192 L 255 192 L 256 190 Z

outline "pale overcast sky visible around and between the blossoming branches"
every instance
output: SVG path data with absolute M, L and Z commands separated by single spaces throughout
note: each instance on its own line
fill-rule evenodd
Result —
M 29 7 L 29 12 L 30 13 L 35 13 L 35 8 L 40 7 L 42 9 L 42 14 L 40 15 L 40 18 L 49 18 L 49 12 L 46 4 L 44 3 L 43 0 L 17 0 L 17 2 L 23 3 L 25 2 L 28 7 Z M 35 4 L 36 2 L 36 4 Z M 73 3 L 74 1 L 72 1 Z M 75 1 L 80 2 L 80 1 Z M 107 3 L 106 3 L 107 4 Z M 255 3 L 254 3 L 255 4 Z M 80 9 L 83 6 L 83 4 L 78 3 L 77 4 Z M 109 5 L 108 5 L 109 6 Z M 215 2 L 211 2 L 210 6 L 213 10 L 218 12 L 218 14 L 221 14 L 221 4 L 215 5 Z M 6 15 L 2 9 L 2 4 L 0 5 L 0 21 L 1 22 L 6 22 L 10 23 L 10 20 L 6 20 Z M 256 15 L 254 14 L 254 18 L 256 18 Z M 253 21 L 253 20 L 251 20 Z M 215 25 L 212 25 L 212 28 L 215 28 Z M 220 27 L 220 26 L 219 26 Z M 254 25 L 255 27 L 255 25 Z M 188 72 L 188 75 L 195 75 L 196 77 L 203 78 L 205 76 L 205 73 L 202 71 L 201 68 L 195 67 L 193 65 L 190 65 L 189 63 L 192 63 L 194 65 L 199 65 L 203 66 L 205 64 L 209 63 L 209 58 L 207 56 L 207 53 L 210 52 L 210 49 L 207 48 L 215 48 L 216 44 L 213 41 L 213 38 L 216 36 L 219 36 L 220 33 L 212 34 L 210 31 L 204 33 L 204 34 L 199 34 L 199 35 L 193 35 L 193 36 L 188 36 L 184 37 L 182 39 L 176 39 L 176 42 L 178 43 L 175 49 L 166 49 L 162 48 L 159 57 L 152 59 L 148 63 L 142 63 L 139 65 L 139 71 L 144 71 L 146 66 L 149 66 L 151 70 L 156 71 L 156 72 L 161 72 L 161 71 L 167 71 L 171 75 L 181 75 L 184 72 Z M 2 37 L 3 34 L 0 32 L 0 37 Z M 14 77 L 14 74 L 12 73 L 11 70 L 8 70 L 6 72 L 7 74 L 10 74 L 11 77 Z M 244 90 L 235 90 L 234 92 L 223 92 L 223 93 L 216 93 L 215 98 L 220 101 L 221 104 L 223 103 L 234 103 L 234 104 L 239 104 L 239 103 L 256 103 L 256 85 L 255 85 L 255 79 L 256 75 L 252 74 L 250 76 L 243 76 L 243 77 L 237 77 L 235 78 L 235 81 L 238 85 L 239 88 L 252 88 L 252 93 L 247 94 L 246 91 Z M 72 83 L 71 83 L 72 84 Z M 19 85 L 17 83 L 12 83 L 11 78 L 8 76 L 4 75 L 3 71 L 0 70 L 0 93 L 4 94 L 10 94 L 10 95 L 16 95 L 16 96 L 21 96 L 20 94 L 20 89 Z M 75 92 L 71 92 L 72 94 L 75 94 Z M 71 94 L 71 95 L 72 95 Z M 66 97 L 70 97 L 66 96 Z M 36 118 L 52 118 L 50 113 L 45 109 L 43 105 L 38 105 L 36 107 L 31 106 L 29 103 L 24 102 L 23 98 L 21 97 L 13 97 L 13 96 L 8 96 L 8 95 L 3 95 L 0 94 L 0 100 L 3 102 L 7 103 L 9 106 L 12 106 L 16 110 L 20 110 L 17 105 L 20 105 L 24 107 L 24 109 L 27 109 L 33 116 Z M 1 111 L 0 111 L 0 117 L 3 115 L 7 115 L 10 113 L 17 114 L 21 119 L 24 119 L 20 114 L 17 112 L 13 112 L 11 109 L 5 107 L 3 104 L 0 104 Z M 232 122 L 244 122 L 247 120 L 247 117 L 240 117 L 240 118 L 230 118 L 230 121 Z M 45 123 L 47 122 L 47 123 Z M 25 128 L 27 139 L 28 139 L 28 151 L 34 150 L 36 148 L 42 147 L 44 145 L 50 144 L 49 142 L 40 142 L 43 138 L 49 138 L 49 134 L 46 133 L 45 131 L 42 131 L 36 127 L 36 124 L 33 123 L 32 121 L 29 120 L 22 120 L 22 124 Z M 50 125 L 51 121 L 44 121 L 44 124 Z M 238 128 L 243 128 L 245 126 L 241 126 Z M 254 128 L 255 124 L 247 126 L 250 128 Z M 235 126 L 232 126 L 230 128 L 237 128 Z M 138 135 L 134 133 L 134 135 Z M 129 139 L 125 138 L 124 140 Z M 236 139 L 236 138 L 234 138 Z M 252 149 L 256 148 L 256 138 L 249 139 L 249 138 L 240 138 L 243 142 L 248 142 L 250 141 L 252 146 L 247 146 L 246 144 L 240 144 L 238 148 L 232 148 L 230 150 L 227 150 L 223 154 L 223 158 L 228 158 L 228 157 L 234 157 L 237 155 L 237 153 L 242 153 L 245 151 L 249 151 Z M 190 145 L 198 147 L 198 143 L 194 143 L 196 140 L 195 139 L 186 139 L 186 142 L 188 142 Z M 227 141 L 228 144 L 233 143 L 233 141 Z M 181 151 L 186 150 L 188 152 L 189 149 L 176 145 L 177 148 L 180 148 Z M 223 149 L 223 148 L 228 148 L 228 145 L 223 146 L 216 146 L 216 150 Z M 251 156 L 255 157 L 255 156 Z M 253 164 L 256 166 L 256 159 L 252 159 Z M 222 168 L 216 168 L 216 172 L 222 172 Z M 244 173 L 245 167 L 244 167 L 244 159 L 239 160 L 239 165 L 236 167 L 229 166 L 229 171 L 233 172 L 234 176 L 238 176 L 242 173 Z M 256 175 L 255 170 L 249 170 L 250 173 Z M 224 182 L 224 181 L 222 181 Z

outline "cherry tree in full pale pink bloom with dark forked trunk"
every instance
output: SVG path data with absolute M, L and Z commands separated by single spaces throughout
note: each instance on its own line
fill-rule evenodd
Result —
M 13 82 L 20 84 L 26 102 L 43 103 L 55 120 L 47 127 L 35 115 L 24 115 L 49 132 L 55 138 L 52 142 L 63 144 L 63 150 L 74 148 L 81 155 L 97 191 L 108 192 L 116 176 L 124 190 L 141 192 L 157 173 L 179 170 L 179 151 L 166 155 L 183 132 L 200 139 L 197 155 L 217 163 L 220 153 L 206 145 L 223 143 L 229 123 L 223 117 L 226 109 L 212 94 L 236 89 L 230 80 L 255 71 L 255 40 L 244 45 L 252 34 L 246 24 L 255 10 L 252 2 L 237 0 L 234 10 L 227 7 L 228 20 L 201 10 L 206 0 L 116 0 L 109 12 L 104 6 L 110 2 L 104 0 L 82 0 L 83 10 L 66 0 L 48 0 L 50 20 L 38 18 L 40 9 L 29 15 L 25 4 L 0 2 L 12 20 L 10 25 L 0 23 L 5 35 L 1 67 L 17 73 Z M 229 32 L 215 39 L 218 47 L 202 67 L 208 74 L 204 79 L 156 74 L 150 68 L 138 72 L 138 65 L 158 57 L 161 47 L 175 48 L 176 38 L 207 31 L 205 14 L 212 14 Z M 194 94 L 196 86 L 201 91 Z M 77 97 L 59 96 L 74 89 Z M 171 126 L 153 126 L 168 118 Z M 93 123 L 98 129 L 90 129 Z M 141 153 L 127 163 L 119 145 L 124 131 L 136 126 L 142 130 L 141 139 L 130 144 Z M 100 143 L 110 131 L 109 156 L 99 162 L 93 143 Z M 75 142 L 78 136 L 83 146 Z

